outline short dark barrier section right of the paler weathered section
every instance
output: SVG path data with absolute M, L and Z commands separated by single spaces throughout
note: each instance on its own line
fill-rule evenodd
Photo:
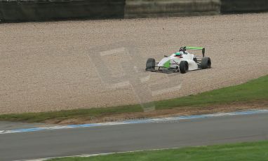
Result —
M 221 0 L 222 13 L 250 13 L 268 11 L 268 0 Z

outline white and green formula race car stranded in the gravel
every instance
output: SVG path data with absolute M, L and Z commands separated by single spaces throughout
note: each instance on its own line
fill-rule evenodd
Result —
M 190 54 L 187 50 L 201 50 L 202 57 Z M 147 59 L 146 71 L 160 72 L 180 72 L 194 71 L 198 69 L 209 69 L 211 67 L 210 57 L 205 57 L 205 48 L 200 47 L 182 47 L 180 51 L 173 53 L 169 57 L 164 55 L 160 62 L 154 58 Z

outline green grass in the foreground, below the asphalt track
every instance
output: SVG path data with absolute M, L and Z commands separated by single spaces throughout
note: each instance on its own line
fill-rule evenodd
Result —
M 159 151 L 116 153 L 89 158 L 56 158 L 51 161 L 177 161 L 268 160 L 268 141 L 175 148 Z

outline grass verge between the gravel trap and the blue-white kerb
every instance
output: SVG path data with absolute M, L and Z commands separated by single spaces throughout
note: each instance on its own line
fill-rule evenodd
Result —
M 268 76 L 262 76 L 248 83 L 224 87 L 200 94 L 176 99 L 167 99 L 154 102 L 156 110 L 173 109 L 180 107 L 201 107 L 210 105 L 230 104 L 233 102 L 255 102 L 268 100 Z M 0 115 L 0 120 L 23 121 L 28 123 L 40 123 L 45 120 L 66 120 L 70 118 L 97 118 L 100 116 L 112 116 L 120 113 L 142 112 L 140 105 L 112 106 L 94 109 L 74 109 L 63 111 L 51 111 L 42 113 L 14 113 Z

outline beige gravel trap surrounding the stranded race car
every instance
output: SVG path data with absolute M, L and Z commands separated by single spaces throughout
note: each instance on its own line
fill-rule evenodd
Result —
M 268 13 L 11 23 L 0 25 L 0 39 L 0 113 L 182 97 L 268 73 Z M 205 46 L 213 68 L 170 75 L 144 71 L 148 57 L 161 59 L 182 45 Z M 134 51 L 129 59 L 135 72 L 121 67 L 128 65 L 128 55 L 107 55 L 111 51 L 102 52 L 102 61 L 112 70 L 96 70 L 95 51 L 114 48 Z M 114 77 L 105 77 L 107 73 Z M 134 82 L 116 80 L 122 76 Z M 170 90 L 173 81 L 180 84 Z

